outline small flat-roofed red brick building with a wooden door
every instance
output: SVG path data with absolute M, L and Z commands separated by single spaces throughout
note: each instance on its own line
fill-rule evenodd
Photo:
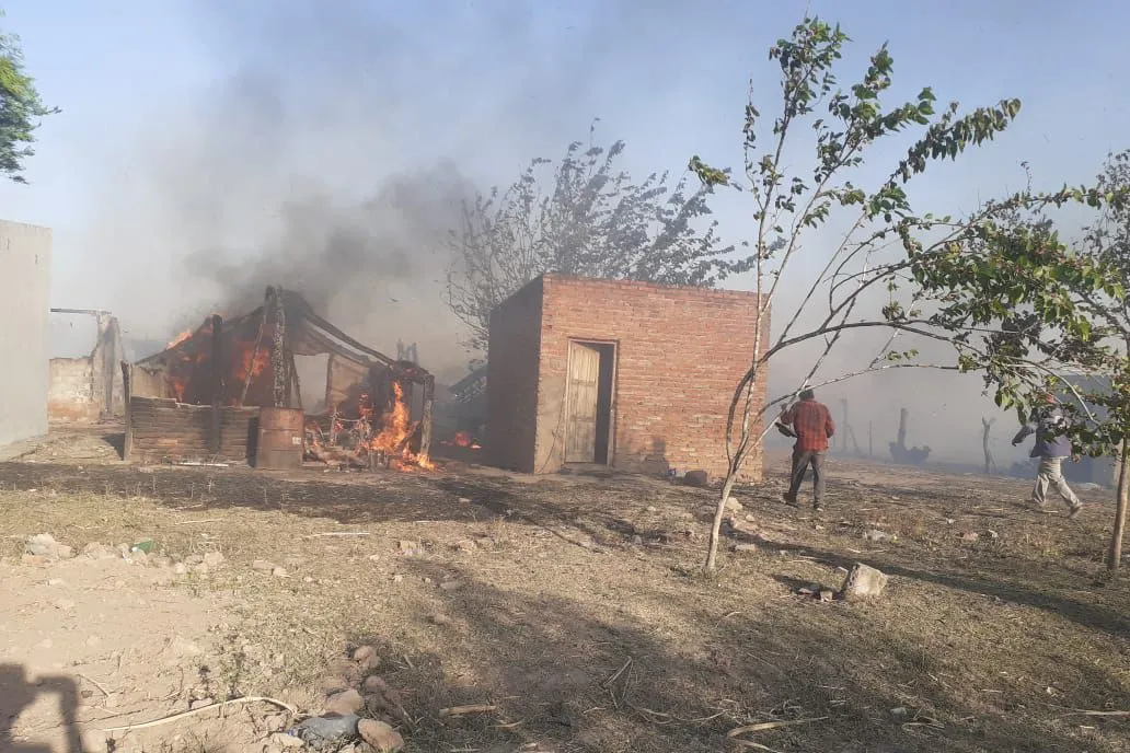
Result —
M 527 473 L 596 463 L 723 474 L 725 418 L 754 352 L 756 316 L 749 292 L 531 281 L 490 317 L 490 462 Z M 767 334 L 768 316 L 763 343 Z M 746 475 L 760 478 L 762 463 L 751 455 Z

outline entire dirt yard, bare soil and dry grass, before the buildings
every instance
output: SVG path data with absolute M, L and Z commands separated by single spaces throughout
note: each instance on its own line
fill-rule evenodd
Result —
M 1024 482 L 833 459 L 814 515 L 780 501 L 775 458 L 705 578 L 709 490 L 138 467 L 115 441 L 0 464 L 2 750 L 281 750 L 281 707 L 210 704 L 316 713 L 377 675 L 405 713 L 364 713 L 406 751 L 1130 751 L 1106 491 L 1068 520 Z M 78 555 L 25 557 L 42 533 Z M 854 562 L 890 575 L 878 601 L 800 593 Z M 487 708 L 442 712 L 464 704 Z

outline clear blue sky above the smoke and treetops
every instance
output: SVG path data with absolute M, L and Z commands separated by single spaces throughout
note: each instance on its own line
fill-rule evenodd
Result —
M 3 214 L 55 229 L 58 304 L 112 305 L 77 273 L 94 261 L 84 238 L 92 214 L 145 170 L 131 150 L 140 134 L 175 128 L 185 103 L 249 63 L 289 76 L 288 65 L 313 61 L 321 71 L 297 75 L 381 79 L 351 95 L 379 105 L 363 110 L 386 108 L 389 169 L 450 156 L 476 181 L 504 181 L 584 135 L 592 116 L 627 139 L 640 170 L 677 170 L 694 152 L 734 163 L 746 81 L 753 76 L 772 100 L 765 51 L 806 5 L 7 0 L 2 23 L 23 37 L 45 100 L 63 113 L 40 132 L 32 185 L 0 185 Z M 1130 67 L 1116 35 L 1130 9 L 1118 3 L 810 6 L 855 40 L 849 63 L 889 40 L 907 93 L 930 84 L 944 100 L 1024 100 L 1005 138 L 944 170 L 920 203 L 960 205 L 971 189 L 1015 186 L 1022 159 L 1037 180 L 1086 180 L 1106 151 L 1127 146 Z M 332 81 L 327 91 L 340 95 Z M 363 137 L 353 147 L 344 151 L 373 151 Z M 723 216 L 723 229 L 744 229 L 740 209 Z

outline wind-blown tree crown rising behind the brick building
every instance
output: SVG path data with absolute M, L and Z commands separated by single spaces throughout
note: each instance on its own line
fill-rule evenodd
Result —
M 740 269 L 709 219 L 712 186 L 672 185 L 668 173 L 634 181 L 617 168 L 624 141 L 594 137 L 596 124 L 588 146 L 572 142 L 556 165 L 533 159 L 507 189 L 463 205 L 446 299 L 472 351 L 486 352 L 490 312 L 542 273 L 709 288 Z

